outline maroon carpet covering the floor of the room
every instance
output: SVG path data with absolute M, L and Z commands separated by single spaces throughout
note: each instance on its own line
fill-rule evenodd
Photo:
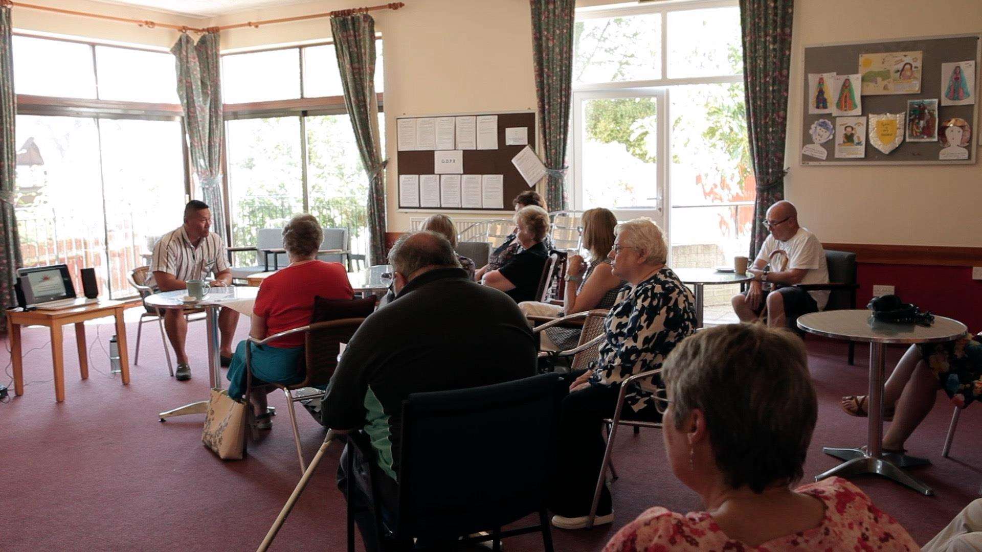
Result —
M 112 327 L 99 325 L 99 342 Z M 204 326 L 191 325 L 189 351 L 203 358 Z M 250 445 L 241 462 L 223 463 L 200 442 L 203 414 L 165 423 L 156 413 L 207 397 L 204 364 L 192 365 L 193 379 L 177 382 L 164 363 L 159 334 L 144 334 L 140 365 L 132 383 L 120 384 L 108 374 L 108 359 L 99 345 L 89 348 L 91 371 L 79 379 L 73 332 L 65 338 L 67 400 L 54 401 L 47 329 L 24 331 L 23 397 L 0 404 L 0 549 L 27 550 L 253 550 L 300 479 L 286 404 L 274 428 Z M 88 327 L 88 339 L 96 339 Z M 246 322 L 240 324 L 245 334 Z M 131 352 L 136 324 L 130 324 Z M 5 348 L 9 344 L 5 344 Z M 843 344 L 809 340 L 811 370 L 819 394 L 818 427 L 812 440 L 805 477 L 838 464 L 822 454 L 822 446 L 852 446 L 865 441 L 863 420 L 843 414 L 844 394 L 866 388 L 866 350 L 857 350 L 859 365 L 846 366 Z M 891 352 L 890 365 L 900 350 Z M 132 358 L 132 353 L 131 353 Z M 9 355 L 0 350 L 0 365 Z M 102 373 L 100 373 L 100 371 Z M 7 368 L 10 373 L 10 368 Z M 9 376 L 0 383 L 6 384 Z M 11 389 L 13 395 L 13 389 Z M 312 458 L 323 429 L 300 410 L 300 431 L 306 458 Z M 976 443 L 982 409 L 961 416 L 952 457 L 941 457 L 952 408 L 939 401 L 910 440 L 911 453 L 932 466 L 913 469 L 937 496 L 924 497 L 886 479 L 853 479 L 883 510 L 900 520 L 918 542 L 925 542 L 969 501 L 982 484 L 982 449 Z M 274 550 L 343 550 L 344 499 L 334 486 L 340 447 L 332 446 L 318 472 L 280 532 Z M 611 532 L 654 505 L 685 512 L 699 507 L 698 497 L 666 468 L 661 435 L 654 430 L 633 436 L 622 429 L 615 463 L 621 478 L 613 492 L 617 518 L 613 525 L 592 531 L 554 529 L 560 551 L 599 550 Z M 360 540 L 359 547 L 360 547 Z M 541 549 L 536 535 L 506 541 L 509 552 Z

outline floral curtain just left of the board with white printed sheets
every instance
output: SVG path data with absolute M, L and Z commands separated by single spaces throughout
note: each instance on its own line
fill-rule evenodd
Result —
M 385 166 L 375 95 L 375 20 L 365 14 L 331 17 L 331 35 L 345 90 L 345 107 L 355 129 L 361 165 L 368 176 L 368 262 L 384 264 Z

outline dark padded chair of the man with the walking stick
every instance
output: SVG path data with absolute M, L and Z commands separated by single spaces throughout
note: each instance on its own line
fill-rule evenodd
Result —
M 541 531 L 543 550 L 552 552 L 546 507 L 559 405 L 569 385 L 563 376 L 550 373 L 409 395 L 403 403 L 398 515 L 381 511 L 377 480 L 385 475 L 377 468 L 373 450 L 364 439 L 349 439 L 355 449 L 348 454 L 349 473 L 355 469 L 355 454 L 372 467 L 370 477 L 376 484 L 368 484 L 382 549 L 492 540 L 494 550 L 500 550 L 503 537 Z M 354 479 L 348 479 L 349 497 Z M 353 502 L 348 501 L 351 551 L 355 550 Z M 501 529 L 530 514 L 538 514 L 538 524 Z M 466 536 L 480 531 L 489 534 Z

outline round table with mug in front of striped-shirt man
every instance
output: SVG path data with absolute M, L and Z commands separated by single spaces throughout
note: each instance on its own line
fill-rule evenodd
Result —
M 205 324 L 207 326 L 207 342 L 208 342 L 208 383 L 214 389 L 222 388 L 222 373 L 221 365 L 222 361 L 220 358 L 219 349 L 221 343 L 219 342 L 218 335 L 218 311 L 221 309 L 223 304 L 230 304 L 232 302 L 255 302 L 255 297 L 258 295 L 258 288 L 249 288 L 245 286 L 229 286 L 227 288 L 212 288 L 211 291 L 204 297 L 203 300 L 186 304 L 181 301 L 181 298 L 188 295 L 188 290 L 175 290 L 173 292 L 161 292 L 158 294 L 153 294 L 148 296 L 144 302 L 149 306 L 156 306 L 157 308 L 184 308 L 186 306 L 204 306 L 205 312 Z M 168 347 L 167 344 L 164 347 Z M 176 409 L 162 412 L 158 414 L 160 416 L 160 421 L 164 421 L 168 417 L 173 417 L 176 415 L 186 415 L 186 414 L 204 414 L 208 411 L 208 401 L 196 401 L 191 404 L 185 405 L 183 407 L 178 407 Z

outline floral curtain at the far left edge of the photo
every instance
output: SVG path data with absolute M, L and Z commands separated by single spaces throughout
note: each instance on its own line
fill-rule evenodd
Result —
M 14 217 L 14 177 L 17 174 L 17 144 L 10 5 L 0 5 L 0 334 L 7 332 L 3 307 L 15 304 L 14 281 L 21 266 L 21 244 Z

